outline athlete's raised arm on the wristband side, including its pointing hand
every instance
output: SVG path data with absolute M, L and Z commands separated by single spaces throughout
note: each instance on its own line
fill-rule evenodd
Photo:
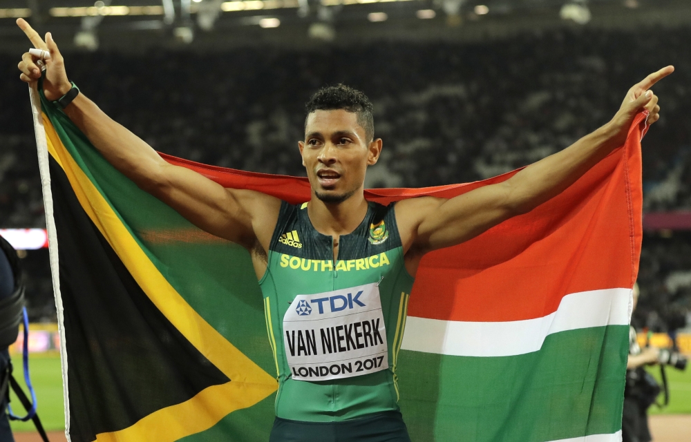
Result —
M 46 98 L 55 101 L 64 96 L 72 85 L 50 32 L 43 41 L 23 19 L 18 19 L 17 25 L 36 48 L 50 52 L 50 58 L 45 60 L 43 82 Z M 37 57 L 29 52 L 23 55 L 19 63 L 21 80 L 32 82 L 41 77 L 36 61 Z M 270 236 L 272 226 L 264 229 L 256 224 L 270 223 L 275 218 L 273 212 L 278 213 L 280 204 L 276 198 L 254 191 L 225 189 L 199 173 L 169 164 L 149 144 L 108 117 L 82 93 L 64 108 L 64 112 L 115 169 L 200 229 L 247 248 L 255 247 L 257 230 L 269 231 Z M 269 240 L 261 238 L 262 245 L 267 247 Z

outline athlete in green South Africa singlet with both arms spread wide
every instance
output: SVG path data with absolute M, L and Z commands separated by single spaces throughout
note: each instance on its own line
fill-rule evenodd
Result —
M 35 48 L 46 50 L 49 100 L 102 155 L 148 191 L 209 233 L 247 248 L 263 291 L 278 393 L 270 441 L 409 441 L 397 405 L 395 375 L 405 307 L 420 260 L 533 208 L 562 192 L 623 145 L 638 111 L 659 119 L 649 90 L 668 66 L 627 93 L 614 118 L 568 148 L 509 180 L 448 200 L 413 198 L 381 206 L 365 200 L 368 166 L 379 160 L 372 104 L 339 85 L 307 104 L 298 142 L 312 187 L 292 205 L 256 191 L 225 189 L 162 160 L 68 81 L 50 33 L 44 41 L 17 20 Z M 30 52 L 20 78 L 41 77 Z

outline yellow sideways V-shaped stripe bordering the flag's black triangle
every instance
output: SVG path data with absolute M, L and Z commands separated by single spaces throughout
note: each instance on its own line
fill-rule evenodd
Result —
M 227 414 L 276 391 L 276 380 L 211 327 L 146 256 L 115 211 L 79 168 L 44 114 L 48 152 L 65 171 L 79 203 L 146 296 L 180 333 L 231 381 L 149 414 L 124 430 L 97 434 L 98 442 L 173 442 L 207 430 Z

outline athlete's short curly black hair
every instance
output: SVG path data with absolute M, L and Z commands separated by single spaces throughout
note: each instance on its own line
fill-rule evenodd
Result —
M 365 129 L 365 136 L 368 141 L 375 137 L 375 119 L 372 117 L 372 102 L 361 91 L 338 84 L 337 86 L 326 86 L 312 95 L 310 101 L 305 104 L 307 115 L 314 111 L 334 111 L 343 109 L 344 111 L 357 114 L 357 123 Z M 307 119 L 305 118 L 305 124 Z

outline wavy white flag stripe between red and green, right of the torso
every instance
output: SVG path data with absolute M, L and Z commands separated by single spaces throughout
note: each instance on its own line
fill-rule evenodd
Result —
M 408 317 L 402 349 L 452 356 L 515 356 L 537 352 L 549 334 L 627 325 L 631 289 L 581 291 L 542 318 L 480 323 Z

